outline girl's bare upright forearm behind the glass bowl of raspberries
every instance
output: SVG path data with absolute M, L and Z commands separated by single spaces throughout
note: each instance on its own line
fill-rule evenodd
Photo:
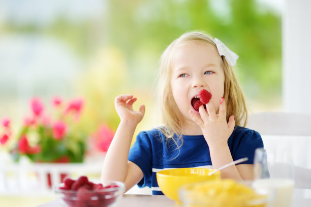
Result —
M 134 123 L 120 122 L 104 160 L 102 181 L 125 181 L 135 128 Z

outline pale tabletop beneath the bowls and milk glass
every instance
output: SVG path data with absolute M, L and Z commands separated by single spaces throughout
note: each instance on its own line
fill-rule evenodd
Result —
M 55 207 L 59 206 L 57 199 L 46 202 L 38 207 Z M 123 195 L 117 207 L 180 207 L 175 201 L 169 199 L 165 195 Z M 311 198 L 293 198 L 292 207 L 309 207 L 311 206 Z

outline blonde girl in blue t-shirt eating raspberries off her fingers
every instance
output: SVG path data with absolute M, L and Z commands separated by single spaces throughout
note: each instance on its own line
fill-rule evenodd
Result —
M 255 149 L 263 142 L 258 132 L 241 127 L 247 112 L 233 68 L 237 57 L 203 32 L 185 33 L 172 42 L 160 65 L 164 125 L 140 132 L 130 149 L 145 106 L 134 111 L 133 95 L 117 96 L 121 121 L 105 157 L 102 180 L 125 182 L 127 190 L 135 184 L 148 186 L 152 194 L 162 194 L 155 176 L 162 169 L 218 168 L 243 157 L 248 161 L 223 169 L 222 178 L 252 179 Z M 197 110 L 194 102 L 202 89 L 212 96 Z

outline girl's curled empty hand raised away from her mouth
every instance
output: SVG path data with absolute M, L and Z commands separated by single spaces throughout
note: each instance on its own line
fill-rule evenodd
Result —
M 114 100 L 114 106 L 121 121 L 138 124 L 145 114 L 145 106 L 141 105 L 138 111 L 133 110 L 133 103 L 137 98 L 130 94 L 119 95 Z

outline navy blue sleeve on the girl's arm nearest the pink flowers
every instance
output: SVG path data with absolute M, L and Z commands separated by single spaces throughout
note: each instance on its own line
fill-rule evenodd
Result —
M 140 132 L 130 149 L 129 161 L 134 162 L 143 171 L 144 177 L 137 184 L 138 187 L 151 187 L 152 150 L 151 141 L 146 132 Z

